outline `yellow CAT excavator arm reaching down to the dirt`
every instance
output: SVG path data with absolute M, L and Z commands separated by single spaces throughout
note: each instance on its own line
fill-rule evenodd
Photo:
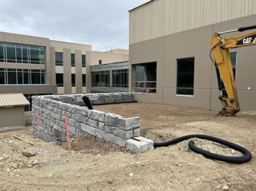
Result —
M 239 37 L 222 38 L 220 37 L 220 34 L 232 33 L 235 31 L 243 32 L 255 28 L 256 25 L 241 27 L 235 30 L 215 33 L 212 37 L 210 56 L 213 55 L 213 58 L 211 57 L 211 59 L 216 67 L 220 90 L 219 99 L 223 105 L 222 110 L 218 114 L 219 116 L 234 116 L 240 111 L 229 48 L 256 45 L 256 31 Z

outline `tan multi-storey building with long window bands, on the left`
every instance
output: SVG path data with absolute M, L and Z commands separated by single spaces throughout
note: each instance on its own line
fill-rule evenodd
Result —
M 90 65 L 127 59 L 127 50 L 101 53 L 85 44 L 0 33 L 0 93 L 23 93 L 30 103 L 34 95 L 85 93 Z

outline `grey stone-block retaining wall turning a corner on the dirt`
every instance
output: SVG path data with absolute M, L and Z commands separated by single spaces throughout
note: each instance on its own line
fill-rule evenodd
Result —
M 66 142 L 66 115 L 71 137 L 91 134 L 126 147 L 133 153 L 153 149 L 153 141 L 140 137 L 139 116 L 123 118 L 121 115 L 89 110 L 83 106 L 84 95 L 88 96 L 92 105 L 134 101 L 130 93 L 33 96 L 34 137 L 46 142 Z

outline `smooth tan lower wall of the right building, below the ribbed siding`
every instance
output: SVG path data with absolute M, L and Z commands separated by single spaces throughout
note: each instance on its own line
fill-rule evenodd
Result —
M 215 32 L 255 25 L 255 20 L 256 15 L 251 15 L 130 44 L 130 92 L 133 91 L 136 64 L 156 61 L 156 93 L 136 93 L 137 101 L 196 106 L 219 111 L 222 105 L 218 99 L 216 71 L 209 57 L 212 35 Z M 236 84 L 241 109 L 255 110 L 256 46 L 235 48 L 231 52 L 237 53 Z M 194 95 L 177 95 L 177 59 L 189 57 L 194 57 Z

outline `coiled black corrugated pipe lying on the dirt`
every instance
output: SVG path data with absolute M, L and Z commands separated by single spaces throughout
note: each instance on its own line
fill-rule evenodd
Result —
M 171 140 L 171 141 L 165 141 L 165 142 L 161 142 L 161 143 L 153 143 L 153 146 L 154 147 L 167 147 L 168 145 L 179 143 L 181 141 L 188 140 L 190 138 L 201 138 L 201 139 L 205 139 L 205 140 L 214 141 L 216 143 L 220 143 L 220 144 L 226 145 L 227 147 L 233 148 L 236 151 L 239 151 L 242 154 L 244 154 L 244 156 L 242 156 L 242 157 L 222 156 L 222 155 L 219 155 L 219 154 L 210 153 L 208 151 L 202 150 L 199 147 L 196 147 L 194 145 L 194 141 L 190 141 L 188 143 L 188 147 L 192 151 L 194 151 L 195 153 L 201 154 L 204 157 L 211 158 L 213 160 L 224 161 L 224 162 L 227 162 L 227 163 L 247 163 L 252 158 L 251 153 L 246 148 L 241 147 L 240 145 L 237 145 L 235 143 L 231 143 L 229 141 L 225 141 L 225 140 L 222 140 L 220 138 L 212 137 L 212 136 L 209 136 L 209 135 L 200 135 L 200 134 L 185 135 L 183 137 L 175 138 L 174 140 Z

